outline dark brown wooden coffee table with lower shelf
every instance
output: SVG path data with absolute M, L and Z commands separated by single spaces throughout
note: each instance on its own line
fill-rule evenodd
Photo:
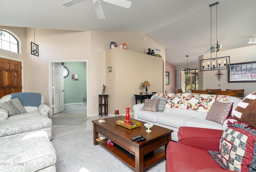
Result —
M 125 119 L 125 116 L 121 116 L 121 119 Z M 136 172 L 142 172 L 166 157 L 166 146 L 171 141 L 173 130 L 154 125 L 150 128 L 152 132 L 146 132 L 146 122 L 139 120 L 135 121 L 141 122 L 141 126 L 129 130 L 117 125 L 115 117 L 104 120 L 106 122 L 103 123 L 92 121 L 94 145 L 102 145 Z M 99 133 L 114 142 L 114 146 L 107 144 L 108 139 L 96 141 Z M 146 140 L 138 143 L 130 140 L 138 135 L 142 135 Z M 164 149 L 160 148 L 161 146 L 164 146 Z

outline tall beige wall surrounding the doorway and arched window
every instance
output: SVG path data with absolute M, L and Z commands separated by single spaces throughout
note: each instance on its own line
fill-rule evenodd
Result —
M 110 42 L 127 43 L 127 49 L 146 53 L 148 48 L 160 48 L 165 62 L 165 49 L 143 34 L 99 31 L 67 31 L 36 28 L 36 44 L 40 56 L 30 54 L 30 42 L 34 42 L 34 28 L 0 26 L 14 33 L 21 40 L 21 54 L 0 49 L 0 56 L 24 61 L 24 92 L 40 92 L 49 104 L 49 64 L 52 61 L 84 61 L 88 64 L 87 106 L 88 115 L 98 114 L 98 94 L 106 83 L 105 51 Z M 146 38 L 146 41 L 143 38 Z M 139 72 L 138 72 L 139 73 Z

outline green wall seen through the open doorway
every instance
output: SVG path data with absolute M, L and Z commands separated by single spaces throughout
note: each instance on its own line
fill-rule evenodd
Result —
M 69 74 L 64 78 L 64 104 L 86 102 L 86 62 L 65 62 Z M 72 80 L 78 74 L 78 80 Z

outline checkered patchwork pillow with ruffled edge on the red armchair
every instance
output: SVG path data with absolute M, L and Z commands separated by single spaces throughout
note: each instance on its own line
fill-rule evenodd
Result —
M 256 129 L 248 124 L 228 123 L 220 139 L 219 152 L 208 151 L 218 165 L 232 171 L 256 171 Z

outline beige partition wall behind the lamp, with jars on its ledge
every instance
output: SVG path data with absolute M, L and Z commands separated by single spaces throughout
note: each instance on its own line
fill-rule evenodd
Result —
M 106 73 L 106 94 L 108 110 L 114 114 L 119 110 L 125 114 L 125 107 L 135 104 L 134 94 L 146 92 L 142 84 L 148 80 L 148 93 L 163 92 L 163 59 L 148 54 L 113 48 L 106 51 L 106 69 L 112 66 L 112 72 Z M 140 103 L 140 101 L 138 101 Z

